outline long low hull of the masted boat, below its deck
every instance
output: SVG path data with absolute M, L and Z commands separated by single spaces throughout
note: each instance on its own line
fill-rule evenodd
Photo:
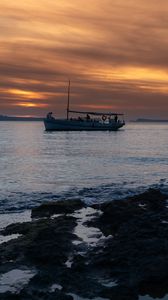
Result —
M 100 123 L 95 121 L 44 119 L 46 131 L 117 131 L 124 125 L 124 121 Z

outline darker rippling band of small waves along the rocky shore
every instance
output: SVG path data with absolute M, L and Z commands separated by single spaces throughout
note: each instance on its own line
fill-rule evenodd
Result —
M 111 200 L 120 200 L 126 197 L 141 194 L 149 189 L 157 189 L 168 195 L 168 181 L 161 179 L 157 184 L 137 186 L 136 182 L 122 182 L 103 184 L 82 189 L 72 188 L 65 192 L 7 192 L 0 197 L 0 213 L 13 213 L 29 210 L 43 202 L 63 199 L 81 199 L 86 204 L 102 203 Z

